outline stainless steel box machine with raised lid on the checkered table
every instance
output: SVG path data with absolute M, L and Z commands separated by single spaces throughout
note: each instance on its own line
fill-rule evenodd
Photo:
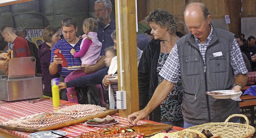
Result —
M 0 78 L 0 99 L 16 101 L 42 97 L 42 78 L 35 76 L 35 70 L 34 57 L 10 59 L 8 75 Z

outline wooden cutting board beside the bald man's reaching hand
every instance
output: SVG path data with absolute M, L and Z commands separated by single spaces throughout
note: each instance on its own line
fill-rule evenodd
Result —
M 162 132 L 165 130 L 166 132 L 170 131 L 172 129 L 172 125 L 170 124 L 151 124 L 151 123 L 145 123 L 139 126 L 124 126 L 124 128 L 132 128 L 135 130 L 135 132 L 144 133 L 144 137 L 153 136 L 159 132 Z M 80 136 L 76 136 L 73 138 L 80 138 Z

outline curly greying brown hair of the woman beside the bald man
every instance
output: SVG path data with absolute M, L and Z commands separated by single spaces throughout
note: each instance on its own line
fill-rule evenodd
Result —
M 165 9 L 156 9 L 145 18 L 146 23 L 156 23 L 161 27 L 166 27 L 170 33 L 178 31 L 178 23 L 175 17 Z

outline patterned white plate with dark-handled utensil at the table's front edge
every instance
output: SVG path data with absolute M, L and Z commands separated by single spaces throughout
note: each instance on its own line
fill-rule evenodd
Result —
M 30 134 L 29 137 L 30 138 L 60 138 L 60 137 L 62 137 L 57 134 L 53 134 L 52 132 L 61 134 L 63 136 L 65 136 L 67 134 L 67 132 L 64 132 L 64 131 L 51 130 L 51 131 L 35 132 L 35 133 Z

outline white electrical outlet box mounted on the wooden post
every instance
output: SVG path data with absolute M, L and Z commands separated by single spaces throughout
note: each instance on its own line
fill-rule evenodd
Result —
M 116 108 L 126 109 L 126 91 L 116 91 Z

